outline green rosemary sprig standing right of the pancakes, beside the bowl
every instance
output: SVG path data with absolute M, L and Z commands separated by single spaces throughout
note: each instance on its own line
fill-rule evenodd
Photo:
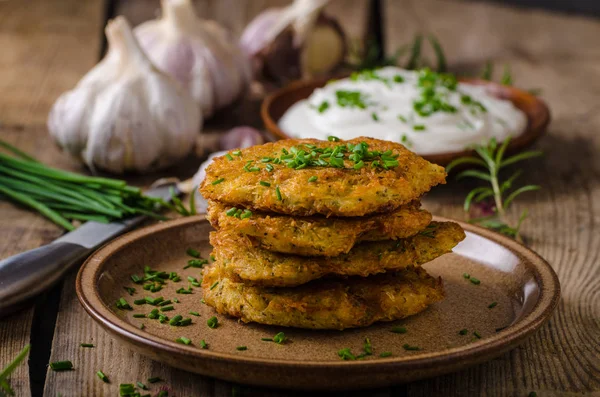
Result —
M 520 241 L 519 231 L 523 221 L 527 218 L 527 210 L 521 213 L 515 226 L 509 225 L 506 210 L 520 194 L 539 190 L 541 187 L 539 185 L 525 185 L 513 189 L 514 182 L 521 175 L 522 170 L 517 170 L 508 179 L 503 181 L 499 179 L 499 172 L 509 165 L 539 157 L 542 155 L 542 152 L 526 151 L 505 158 L 504 152 L 509 143 L 510 138 L 506 139 L 501 145 L 496 142 L 496 139 L 492 138 L 487 145 L 478 145 L 474 148 L 479 157 L 467 156 L 458 158 L 448 164 L 446 172 L 449 173 L 459 165 L 472 165 L 483 168 L 483 170 L 475 168 L 466 169 L 456 175 L 457 179 L 471 177 L 483 180 L 489 184 L 489 186 L 476 187 L 467 194 L 464 202 L 464 210 L 468 212 L 473 202 L 479 203 L 491 199 L 493 200 L 493 213 L 488 216 L 470 219 L 469 222 L 496 230 Z

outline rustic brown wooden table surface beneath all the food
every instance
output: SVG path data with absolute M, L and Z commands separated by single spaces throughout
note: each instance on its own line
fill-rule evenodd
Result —
M 85 170 L 63 156 L 48 138 L 45 121 L 57 96 L 70 89 L 98 60 L 107 15 L 133 23 L 155 15 L 156 0 L 0 1 L 0 135 L 47 164 Z M 257 12 L 287 1 L 202 0 L 198 11 L 239 34 Z M 478 70 L 491 59 L 510 64 L 515 85 L 541 88 L 552 111 L 548 135 L 536 146 L 540 160 L 524 165 L 524 182 L 543 190 L 522 196 L 511 214 L 524 208 L 523 233 L 560 278 L 563 294 L 552 319 L 519 348 L 465 371 L 393 388 L 362 391 L 376 396 L 600 395 L 600 21 L 495 3 L 448 0 L 337 0 L 329 12 L 353 37 L 376 29 L 388 53 L 416 32 L 441 40 L 453 71 Z M 372 13 L 374 12 L 374 13 Z M 427 53 L 427 51 L 426 51 Z M 497 70 L 497 74 L 500 71 Z M 496 76 L 499 78 L 499 76 Z M 206 129 L 237 124 L 260 127 L 258 100 Z M 235 118 L 235 122 L 231 119 Z M 180 177 L 198 163 L 171 170 Z M 157 177 L 151 176 L 151 179 Z M 131 179 L 144 184 L 151 179 Z M 469 186 L 450 181 L 425 205 L 438 215 L 465 219 L 461 202 Z M 0 258 L 46 244 L 61 230 L 45 219 L 0 202 Z M 0 319 L 0 367 L 27 343 L 30 360 L 11 377 L 18 396 L 116 395 L 119 383 L 160 376 L 176 396 L 229 396 L 238 386 L 180 371 L 149 360 L 113 341 L 83 311 L 72 272 L 33 305 Z M 82 351 L 79 344 L 93 342 Z M 47 363 L 69 359 L 76 370 L 55 373 Z M 110 375 L 99 382 L 96 370 Z M 243 395 L 304 395 L 242 388 Z

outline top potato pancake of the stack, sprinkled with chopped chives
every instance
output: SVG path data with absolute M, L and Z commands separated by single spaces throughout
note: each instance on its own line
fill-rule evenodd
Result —
M 289 139 L 217 157 L 206 199 L 295 216 L 364 216 L 394 211 L 445 183 L 443 167 L 399 143 Z

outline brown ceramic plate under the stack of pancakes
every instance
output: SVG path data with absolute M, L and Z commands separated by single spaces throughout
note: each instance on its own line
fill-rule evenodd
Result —
M 445 220 L 445 219 L 437 219 Z M 393 323 L 346 331 L 311 331 L 249 325 L 217 315 L 219 327 L 207 320 L 215 315 L 201 303 L 199 288 L 193 294 L 175 290 L 187 287 L 187 277 L 200 277 L 199 269 L 183 269 L 190 259 L 187 248 L 208 258 L 211 226 L 203 217 L 182 218 L 126 234 L 96 251 L 77 277 L 77 295 L 85 310 L 116 339 L 155 360 L 199 374 L 229 381 L 294 389 L 351 389 L 391 385 L 457 371 L 506 352 L 537 330 L 556 307 L 560 286 L 544 259 L 494 232 L 461 224 L 467 238 L 454 253 L 426 265 L 444 279 L 447 297 L 423 313 Z M 148 293 L 133 284 L 130 275 L 143 274 L 145 265 L 182 277 L 168 282 L 160 292 Z M 469 273 L 481 280 L 475 285 L 463 278 Z M 129 296 L 124 287 L 134 287 Z M 187 327 L 160 324 L 158 320 L 134 318 L 149 313 L 149 305 L 137 306 L 144 296 L 178 298 L 169 317 L 182 314 L 194 323 Z M 115 302 L 124 297 L 134 308 L 119 310 Z M 492 302 L 497 306 L 488 308 Z M 189 316 L 196 311 L 199 317 Z M 140 325 L 144 324 L 144 330 Z M 404 334 L 392 333 L 404 326 Z M 459 331 L 468 329 L 467 335 Z M 289 342 L 278 345 L 261 341 L 284 331 Z M 477 331 L 481 339 L 474 336 Z M 185 336 L 193 345 L 175 339 Z M 338 350 L 360 353 L 370 338 L 374 354 L 360 361 L 342 361 Z M 208 349 L 201 349 L 205 340 Z M 406 351 L 404 344 L 418 346 Z M 237 351 L 237 346 L 247 346 Z M 381 352 L 392 352 L 380 358 Z

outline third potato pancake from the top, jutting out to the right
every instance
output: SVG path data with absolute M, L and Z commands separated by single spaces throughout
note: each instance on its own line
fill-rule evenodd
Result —
M 248 237 L 225 230 L 212 232 L 218 267 L 227 278 L 252 285 L 293 287 L 328 275 L 362 276 L 401 270 L 429 262 L 464 239 L 453 222 L 432 222 L 407 239 L 364 242 L 336 257 L 303 257 L 254 247 Z

